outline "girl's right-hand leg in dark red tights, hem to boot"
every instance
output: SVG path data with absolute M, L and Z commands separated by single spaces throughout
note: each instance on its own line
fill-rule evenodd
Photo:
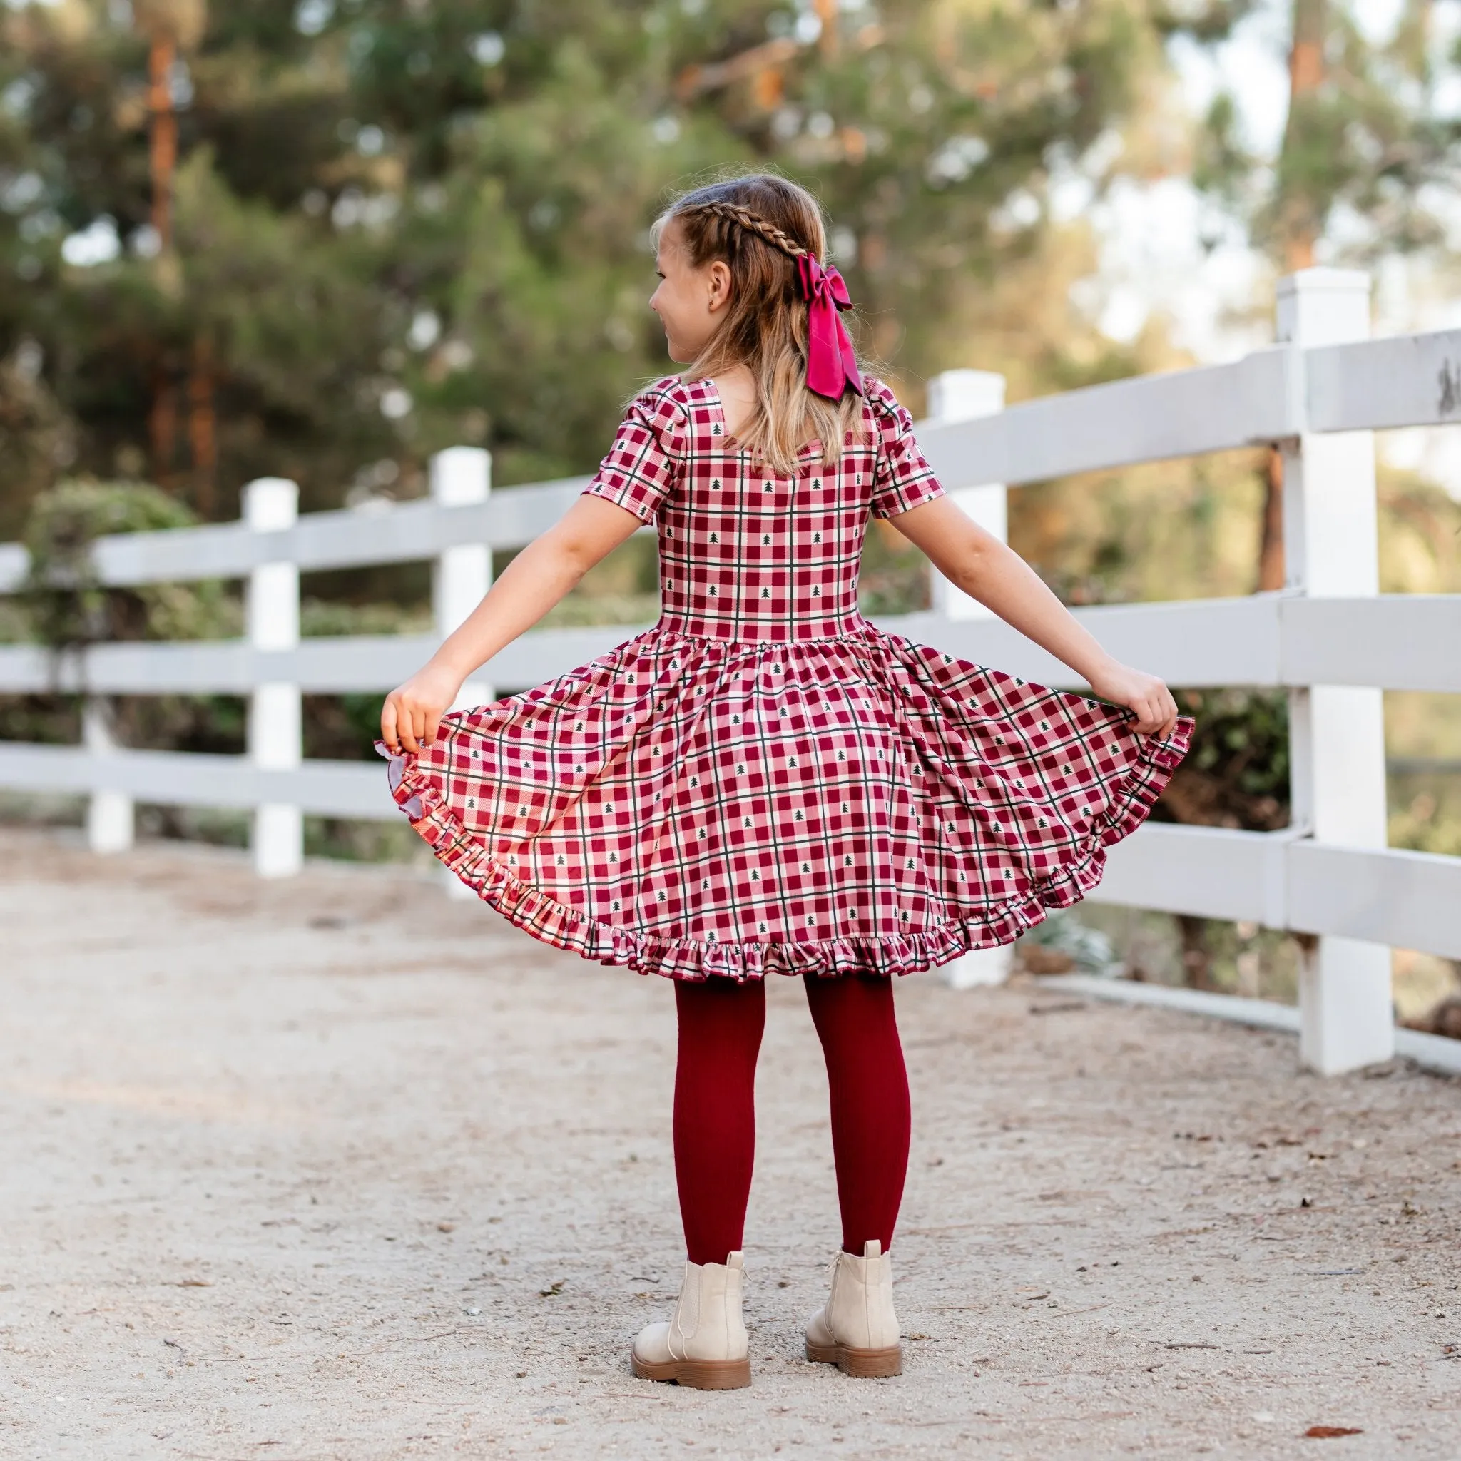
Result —
M 893 979 L 806 974 L 806 1002 L 827 1058 L 831 1151 L 837 1166 L 842 1246 L 893 1246 L 909 1166 L 909 1078 L 893 1017 Z

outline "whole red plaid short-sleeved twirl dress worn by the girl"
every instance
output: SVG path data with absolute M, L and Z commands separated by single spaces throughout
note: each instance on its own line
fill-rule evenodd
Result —
M 389 757 L 416 831 L 519 928 L 675 979 L 904 974 L 1077 901 L 1147 815 L 1191 720 L 1137 735 L 858 611 L 869 510 L 944 491 L 865 392 L 863 440 L 777 476 L 712 381 L 646 390 L 584 491 L 657 522 L 659 622 Z

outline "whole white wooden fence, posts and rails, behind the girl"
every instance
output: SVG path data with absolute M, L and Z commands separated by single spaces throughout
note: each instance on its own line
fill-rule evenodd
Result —
M 955 500 L 1001 535 L 1011 487 L 1281 446 L 1281 592 L 1078 617 L 1115 655 L 1169 684 L 1287 687 L 1293 825 L 1265 834 L 1148 824 L 1113 850 L 1093 897 L 1318 935 L 1300 977 L 1300 1046 L 1311 1067 L 1337 1072 L 1395 1049 L 1391 947 L 1461 957 L 1461 859 L 1385 844 L 1381 701 L 1384 690 L 1461 693 L 1461 596 L 1379 595 L 1372 438 L 1389 427 L 1461 421 L 1461 330 L 1370 340 L 1367 276 L 1331 269 L 1281 282 L 1277 326 L 1278 343 L 1230 365 L 1010 409 L 1002 377 L 951 371 L 934 381 L 919 438 Z M 94 695 L 245 694 L 248 752 L 121 749 L 94 712 L 82 747 L 0 744 L 0 786 L 89 793 L 98 852 L 130 846 L 136 801 L 248 808 L 257 871 L 297 871 L 304 814 L 400 815 L 381 766 L 301 760 L 301 694 L 400 682 L 485 592 L 491 551 L 532 541 L 586 481 L 494 494 L 487 453 L 456 447 L 434 459 L 431 495 L 421 503 L 298 517 L 294 484 L 264 479 L 247 488 L 240 523 L 104 539 L 96 565 L 108 584 L 247 579 L 248 633 L 231 643 L 96 646 L 83 665 L 63 666 L 61 684 Z M 301 570 L 419 560 L 435 564 L 434 634 L 300 638 Z M 0 546 L 0 592 L 13 592 L 25 570 L 22 548 Z M 1064 665 L 934 577 L 929 612 L 875 622 L 1029 679 L 1078 685 Z M 526 634 L 485 666 L 491 684 L 469 685 L 463 703 L 539 684 L 634 633 Z M 54 684 L 44 649 L 0 647 L 0 691 Z M 957 983 L 999 977 L 1007 953 L 970 955 L 945 974 Z

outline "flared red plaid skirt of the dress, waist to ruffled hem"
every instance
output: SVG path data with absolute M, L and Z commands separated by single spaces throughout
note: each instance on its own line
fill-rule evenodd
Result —
M 392 755 L 435 856 L 555 948 L 674 979 L 906 974 L 1088 893 L 1186 754 L 865 624 L 655 625 Z

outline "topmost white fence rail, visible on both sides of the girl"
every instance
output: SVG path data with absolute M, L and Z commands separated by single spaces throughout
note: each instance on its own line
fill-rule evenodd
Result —
M 1455 421 L 1461 421 L 1461 330 L 1441 330 L 1311 349 L 1271 346 L 1232 365 L 1088 386 L 973 421 L 926 422 L 919 443 L 948 487 L 1017 487 L 1256 446 L 1300 431 Z M 562 516 L 587 481 L 500 488 L 469 507 L 421 501 L 311 513 L 273 533 L 241 523 L 127 533 L 98 543 L 96 567 L 104 583 L 130 587 L 240 579 L 273 561 L 305 573 L 425 561 L 459 542 L 522 548 Z M 22 584 L 26 564 L 18 543 L 0 545 L 0 593 Z

